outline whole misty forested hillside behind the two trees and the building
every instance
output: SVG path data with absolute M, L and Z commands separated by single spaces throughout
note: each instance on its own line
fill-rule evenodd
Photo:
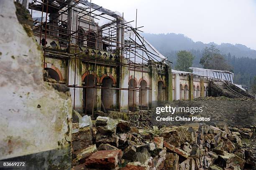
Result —
M 145 37 L 160 53 L 165 57 L 168 57 L 169 61 L 172 61 L 172 68 L 174 69 L 177 63 L 177 52 L 180 50 L 186 50 L 195 56 L 193 60 L 193 67 L 200 67 L 199 63 L 202 57 L 204 48 L 209 47 L 212 43 L 202 43 L 200 41 L 193 41 L 191 38 L 184 36 L 183 34 L 151 34 L 142 33 Z M 216 47 L 223 54 L 228 64 L 231 66 L 231 71 L 234 73 L 234 81 L 236 84 L 243 84 L 244 86 L 252 86 L 256 84 L 256 50 L 248 48 L 242 44 L 230 44 L 221 43 L 215 44 Z

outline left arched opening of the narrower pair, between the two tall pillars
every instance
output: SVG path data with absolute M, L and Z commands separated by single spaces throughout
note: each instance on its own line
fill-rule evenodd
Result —
M 136 91 L 137 82 L 134 79 L 131 79 L 129 81 L 129 92 L 128 92 L 128 98 L 129 98 L 129 110 L 130 111 L 136 111 L 137 110 L 137 91 Z M 135 90 L 133 90 L 135 89 Z

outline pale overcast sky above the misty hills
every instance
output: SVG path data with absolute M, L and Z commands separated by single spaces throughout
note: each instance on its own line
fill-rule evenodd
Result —
M 124 13 L 145 33 L 181 33 L 203 43 L 240 43 L 256 50 L 256 0 L 92 0 Z M 135 22 L 133 22 L 135 25 Z

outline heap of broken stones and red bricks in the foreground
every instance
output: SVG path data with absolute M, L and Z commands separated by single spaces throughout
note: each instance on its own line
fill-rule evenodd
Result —
M 194 123 L 138 129 L 122 119 L 98 116 L 96 121 L 86 117 L 80 124 L 73 124 L 72 134 L 72 170 L 243 170 L 256 167 L 255 147 L 251 141 L 255 127 L 228 127 L 218 122 L 214 126 Z M 241 138 L 251 144 L 243 145 Z

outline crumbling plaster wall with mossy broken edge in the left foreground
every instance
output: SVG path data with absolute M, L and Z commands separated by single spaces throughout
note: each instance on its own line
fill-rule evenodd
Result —
M 27 161 L 27 169 L 71 168 L 70 94 L 43 81 L 29 12 L 4 0 L 0 20 L 0 160 Z

